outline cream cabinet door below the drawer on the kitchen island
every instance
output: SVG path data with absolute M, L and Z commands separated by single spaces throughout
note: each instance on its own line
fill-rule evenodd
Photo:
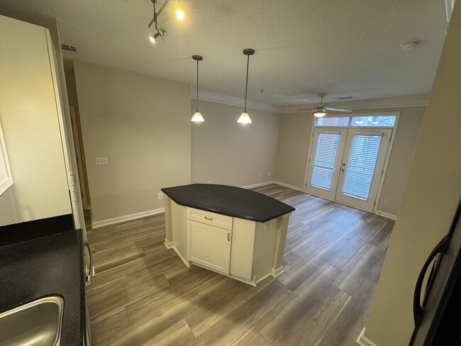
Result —
M 229 274 L 232 231 L 187 221 L 189 261 Z

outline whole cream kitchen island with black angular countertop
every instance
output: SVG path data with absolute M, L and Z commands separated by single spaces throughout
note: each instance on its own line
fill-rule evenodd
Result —
M 288 221 L 295 209 L 235 186 L 164 188 L 165 246 L 196 264 L 256 285 L 283 272 Z

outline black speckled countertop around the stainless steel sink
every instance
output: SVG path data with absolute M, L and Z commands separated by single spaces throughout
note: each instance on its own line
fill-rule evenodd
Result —
M 82 230 L 0 247 L 0 312 L 44 296 L 62 296 L 60 345 L 83 345 L 83 265 Z

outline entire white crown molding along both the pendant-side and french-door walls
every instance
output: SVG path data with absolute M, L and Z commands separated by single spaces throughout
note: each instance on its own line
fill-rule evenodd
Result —
M 196 89 L 191 88 L 191 99 L 196 99 Z M 200 91 L 199 99 L 204 101 L 217 102 L 218 104 L 229 104 L 232 106 L 243 107 L 245 99 L 240 99 L 234 96 L 218 94 L 211 91 Z M 401 108 L 401 107 L 414 107 L 414 106 L 427 106 L 429 95 L 416 95 L 416 96 L 398 96 L 387 97 L 385 99 L 368 99 L 368 100 L 352 100 L 343 102 L 328 102 L 329 106 L 335 108 L 348 108 L 353 111 L 360 109 L 374 109 L 374 108 Z M 315 104 L 299 104 L 296 106 L 276 106 L 274 104 L 266 104 L 264 102 L 247 101 L 247 107 L 257 109 L 260 111 L 269 111 L 273 113 L 308 113 L 307 111 L 298 111 L 298 108 L 306 108 L 315 106 Z

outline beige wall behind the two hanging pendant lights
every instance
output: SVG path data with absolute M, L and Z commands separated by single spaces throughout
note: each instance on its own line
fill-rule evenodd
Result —
M 248 186 L 274 180 L 278 113 L 248 109 L 252 123 L 240 124 L 242 107 L 200 101 L 199 108 L 205 122 L 191 123 L 192 182 Z

